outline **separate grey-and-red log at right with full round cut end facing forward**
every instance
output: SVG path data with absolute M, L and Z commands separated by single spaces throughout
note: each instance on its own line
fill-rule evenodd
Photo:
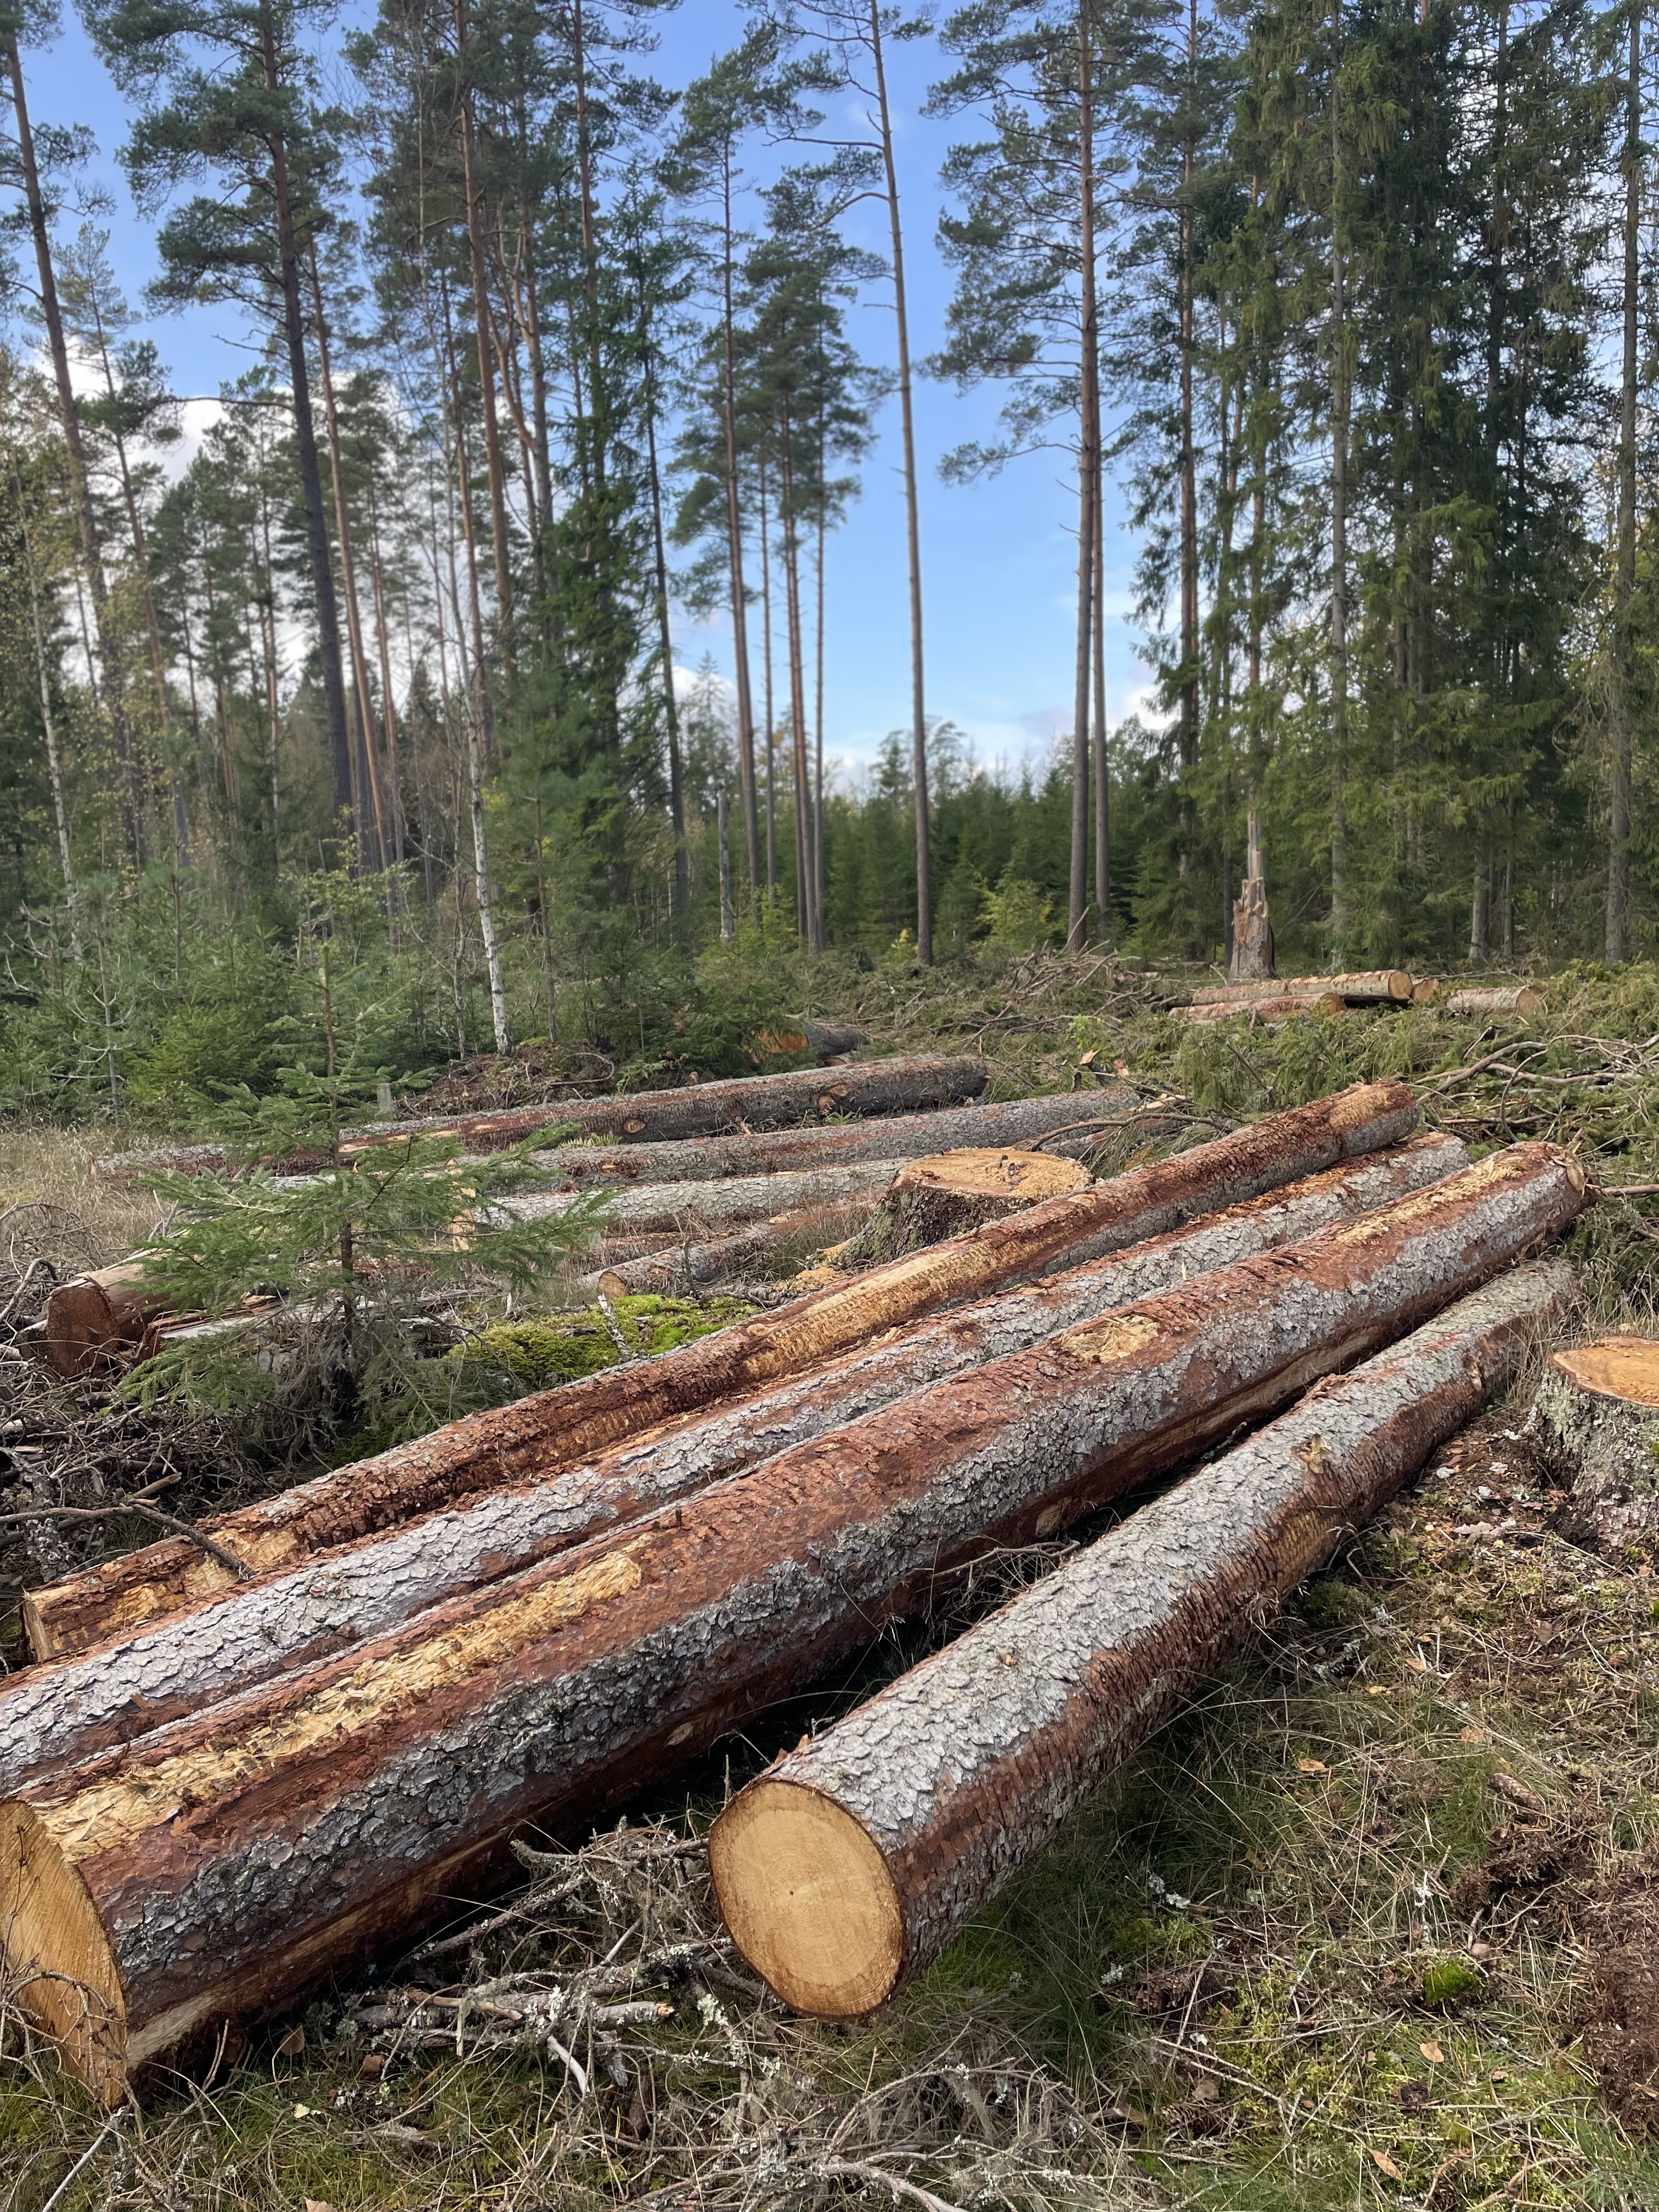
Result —
M 787 1752 L 708 1838 L 737 1949 L 854 2020 L 931 1964 L 1084 1798 L 1520 1369 L 1566 1303 L 1522 1267 L 1416 1329 Z

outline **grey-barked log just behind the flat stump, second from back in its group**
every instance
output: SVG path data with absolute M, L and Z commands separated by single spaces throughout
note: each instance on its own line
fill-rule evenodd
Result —
M 617 1190 L 626 1183 L 690 1183 L 734 1175 L 805 1172 L 860 1159 L 922 1159 L 967 1146 L 1033 1146 L 1048 1137 L 1099 1146 L 1102 1137 L 1133 1115 L 1133 1091 L 1091 1091 L 1086 1097 L 1009 1099 L 991 1106 L 956 1106 L 945 1113 L 907 1113 L 878 1121 L 830 1124 L 823 1128 L 765 1130 L 757 1137 L 692 1137 L 686 1144 L 560 1146 L 538 1152 L 571 1188 Z M 1157 1110 L 1157 1108 L 1152 1108 Z

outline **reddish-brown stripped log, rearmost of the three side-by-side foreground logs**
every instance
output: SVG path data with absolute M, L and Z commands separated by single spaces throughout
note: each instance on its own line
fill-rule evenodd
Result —
M 476 1491 L 500 1489 L 522 1475 L 549 1475 L 677 1413 L 801 1374 L 883 1329 L 907 1327 L 942 1305 L 1020 1283 L 1062 1259 L 1082 1265 L 1099 1252 L 1157 1237 L 1197 1212 L 1281 1190 L 1340 1159 L 1398 1144 L 1416 1121 L 1418 1106 L 1407 1084 L 1354 1084 L 1172 1159 L 991 1221 L 971 1237 L 810 1292 L 659 1358 L 606 1367 L 562 1389 L 473 1413 L 204 1528 L 254 1573 L 270 1573 Z M 86 1650 L 230 1579 L 219 1559 L 184 1537 L 148 1544 L 27 1593 L 29 1646 L 38 1659 Z

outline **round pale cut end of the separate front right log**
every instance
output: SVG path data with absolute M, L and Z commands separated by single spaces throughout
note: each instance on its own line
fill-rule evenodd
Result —
M 714 1823 L 708 1867 L 737 1949 L 792 2011 L 858 2020 L 891 1995 L 905 1964 L 898 1893 L 832 1798 L 752 1783 Z

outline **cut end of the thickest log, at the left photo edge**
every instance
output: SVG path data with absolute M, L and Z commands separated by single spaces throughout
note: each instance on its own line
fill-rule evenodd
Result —
M 0 1805 L 0 1929 L 7 1980 L 104 2106 L 126 2095 L 126 2004 L 86 1885 L 18 1801 Z

